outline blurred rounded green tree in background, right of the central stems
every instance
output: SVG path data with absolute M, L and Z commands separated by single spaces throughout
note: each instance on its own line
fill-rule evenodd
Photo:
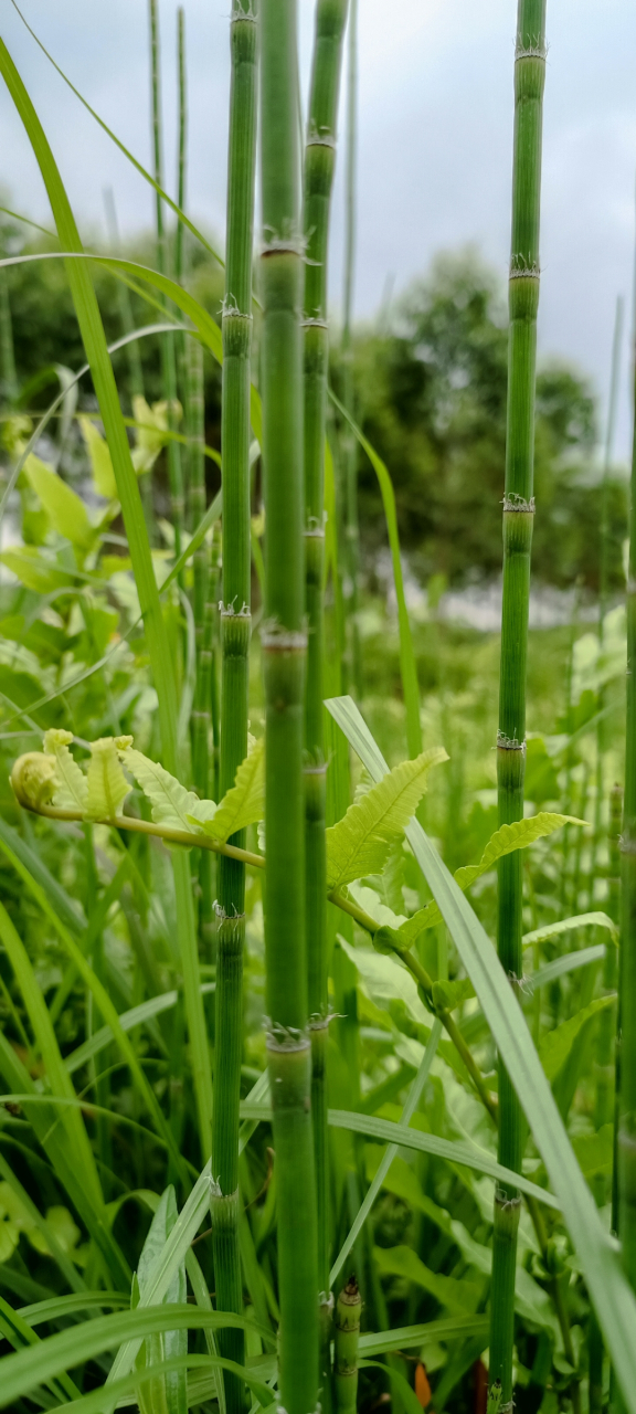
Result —
M 472 249 L 440 256 L 416 283 L 391 334 L 355 342 L 358 414 L 396 486 L 400 534 L 416 570 L 451 584 L 500 573 L 507 328 L 499 281 Z M 335 355 L 335 359 L 338 355 Z M 335 363 L 334 379 L 339 382 Z M 534 574 L 598 588 L 601 478 L 595 403 L 561 363 L 537 379 Z M 359 457 L 360 526 L 384 542 L 375 474 Z M 611 484 L 612 588 L 622 585 L 626 484 Z

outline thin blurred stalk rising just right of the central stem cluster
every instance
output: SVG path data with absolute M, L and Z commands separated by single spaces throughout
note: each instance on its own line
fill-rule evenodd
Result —
M 353 274 L 356 253 L 356 148 L 358 148 L 358 0 L 349 4 L 346 75 L 346 163 L 345 163 L 345 290 L 342 318 L 342 402 L 353 414 Z M 362 696 L 360 635 L 358 628 L 358 585 L 360 574 L 360 532 L 358 526 L 358 448 L 348 424 L 342 433 L 345 509 L 345 571 L 348 617 L 348 667 L 356 696 Z

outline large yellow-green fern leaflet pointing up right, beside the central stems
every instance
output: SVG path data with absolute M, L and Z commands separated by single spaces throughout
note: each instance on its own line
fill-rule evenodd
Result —
M 444 747 L 401 761 L 351 805 L 326 831 L 326 888 L 342 888 L 365 874 L 382 874 L 393 840 L 401 834 L 427 788 L 431 766 L 448 761 Z

